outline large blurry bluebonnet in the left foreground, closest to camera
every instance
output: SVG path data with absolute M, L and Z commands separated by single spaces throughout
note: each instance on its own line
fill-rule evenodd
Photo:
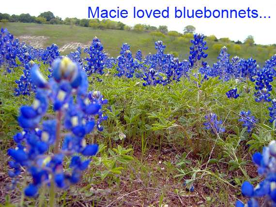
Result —
M 92 117 L 99 115 L 99 122 L 107 118 L 101 112 L 101 104 L 107 101 L 99 92 L 94 93 L 92 102 L 87 101 L 87 76 L 76 63 L 68 58 L 56 59 L 52 71 L 53 77 L 46 81 L 37 65 L 31 67 L 31 80 L 37 88 L 35 99 L 31 106 L 20 108 L 18 123 L 23 132 L 14 136 L 17 147 L 8 150 L 13 159 L 9 162 L 9 176 L 16 180 L 20 167 L 31 174 L 32 183 L 24 191 L 27 196 L 35 196 L 40 186 L 53 182 L 61 189 L 77 183 L 91 161 L 82 161 L 79 154 L 93 156 L 98 150 L 96 144 L 87 145 L 84 139 L 94 128 L 96 120 Z M 53 106 L 56 118 L 44 120 L 48 105 Z M 61 129 L 66 132 L 63 143 Z M 54 154 L 48 153 L 51 146 Z M 63 169 L 63 160 L 68 156 L 73 156 L 71 173 Z

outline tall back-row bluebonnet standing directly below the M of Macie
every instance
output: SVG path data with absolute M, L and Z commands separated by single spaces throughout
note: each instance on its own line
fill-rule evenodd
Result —
M 86 58 L 87 65 L 85 66 L 88 75 L 92 73 L 104 74 L 104 60 L 106 59 L 106 54 L 103 52 L 103 49 L 104 47 L 100 39 L 94 37 L 89 50 L 85 50 L 85 53 L 89 55 L 89 57 Z

